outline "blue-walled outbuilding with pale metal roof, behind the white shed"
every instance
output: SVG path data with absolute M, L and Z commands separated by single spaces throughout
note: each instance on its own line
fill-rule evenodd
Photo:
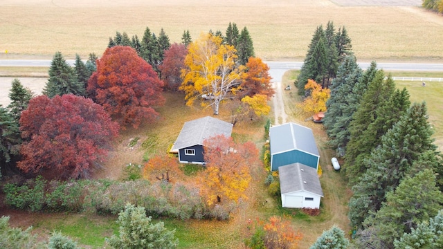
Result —
M 318 153 L 314 133 L 308 127 L 289 122 L 269 129 L 271 171 L 292 163 L 302 163 L 318 169 Z

